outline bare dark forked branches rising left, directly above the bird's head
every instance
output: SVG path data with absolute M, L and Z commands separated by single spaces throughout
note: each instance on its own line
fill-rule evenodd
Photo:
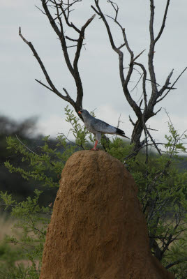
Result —
M 50 21 L 51 27 L 54 30 L 55 33 L 57 33 L 57 36 L 59 38 L 59 41 L 61 43 L 61 49 L 63 52 L 64 59 L 66 61 L 66 66 L 68 70 L 70 71 L 70 74 L 73 76 L 73 79 L 75 80 L 76 88 L 77 88 L 77 98 L 76 100 L 73 100 L 73 98 L 70 97 L 68 91 L 63 88 L 63 91 L 66 95 L 63 95 L 54 85 L 52 82 L 50 76 L 47 73 L 47 70 L 45 69 L 45 66 L 43 64 L 43 61 L 41 61 L 40 56 L 36 52 L 35 48 L 33 47 L 33 44 L 26 40 L 24 36 L 22 36 L 21 28 L 19 29 L 19 35 L 21 36 L 22 40 L 24 40 L 24 43 L 27 43 L 29 47 L 31 48 L 31 51 L 33 52 L 33 55 L 36 57 L 38 63 L 40 64 L 40 68 L 43 70 L 43 73 L 45 75 L 45 79 L 47 80 L 47 85 L 43 82 L 40 82 L 40 80 L 36 80 L 36 82 L 40 83 L 41 85 L 45 86 L 50 91 L 54 92 L 65 100 L 66 102 L 70 103 L 70 105 L 73 105 L 75 112 L 82 109 L 82 98 L 83 98 L 83 88 L 82 88 L 82 81 L 79 73 L 78 68 L 78 62 L 80 59 L 80 52 L 82 50 L 83 41 L 84 41 L 84 32 L 85 29 L 89 26 L 89 24 L 92 22 L 95 15 L 89 18 L 87 22 L 81 27 L 76 27 L 73 22 L 69 21 L 70 12 L 73 8 L 73 5 L 75 5 L 77 2 L 80 2 L 82 0 L 68 0 L 67 3 L 64 3 L 62 0 L 40 0 L 43 6 L 43 10 L 41 10 Z M 63 17 L 63 19 L 62 19 Z M 77 35 L 77 38 L 70 38 L 68 36 L 65 36 L 64 33 L 64 26 L 66 24 L 66 27 L 69 27 L 70 29 L 73 29 Z M 74 45 L 68 45 L 67 41 L 73 42 Z M 73 59 L 73 63 L 70 61 L 70 56 L 68 54 L 68 48 L 69 47 L 75 47 L 75 56 Z M 78 114 L 80 116 L 80 114 Z

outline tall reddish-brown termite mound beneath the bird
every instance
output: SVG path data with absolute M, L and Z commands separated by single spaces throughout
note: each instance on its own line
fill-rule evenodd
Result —
M 40 279 L 173 279 L 151 255 L 135 181 L 103 151 L 79 151 L 61 175 Z

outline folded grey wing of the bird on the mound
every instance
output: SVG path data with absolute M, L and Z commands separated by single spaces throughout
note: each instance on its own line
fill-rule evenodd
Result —
M 108 123 L 100 119 L 91 119 L 89 125 L 92 129 L 96 130 L 99 133 L 113 134 L 117 132 L 117 128 L 109 125 Z

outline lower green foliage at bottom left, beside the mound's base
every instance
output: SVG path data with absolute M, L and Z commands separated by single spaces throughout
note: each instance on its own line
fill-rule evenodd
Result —
M 3 266 L 10 268 L 11 276 L 19 277 L 24 272 L 24 278 L 39 278 L 41 259 L 43 254 L 43 244 L 45 243 L 45 235 L 47 225 L 50 223 L 51 210 L 49 206 L 43 207 L 38 204 L 38 199 L 42 191 L 35 190 L 33 198 L 27 197 L 23 202 L 10 203 L 10 195 L 7 193 L 0 194 L 6 207 L 11 206 L 11 216 L 17 220 L 14 228 L 22 229 L 22 234 L 18 238 L 15 236 L 6 236 L 6 239 L 0 246 L 0 259 L 5 261 Z M 8 199 L 7 199 L 8 196 Z M 18 245 L 18 250 L 11 250 L 7 243 Z M 17 259 L 27 259 L 31 261 L 31 266 L 24 269 L 24 266 L 16 268 L 14 262 Z M 39 265 L 36 266 L 36 262 Z M 13 273 L 14 271 L 14 273 Z M 20 274 L 20 275 L 19 275 Z M 31 276 L 31 277 L 29 277 Z

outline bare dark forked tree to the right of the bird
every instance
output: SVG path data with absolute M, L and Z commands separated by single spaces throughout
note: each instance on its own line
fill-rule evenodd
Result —
M 172 85 L 170 80 L 173 74 L 173 70 L 171 73 L 167 76 L 165 80 L 165 84 L 160 87 L 160 90 L 158 90 L 158 84 L 156 82 L 156 73 L 154 71 L 154 52 L 155 52 L 155 45 L 160 39 L 160 36 L 163 33 L 163 30 L 165 28 L 165 20 L 167 17 L 167 11 L 170 5 L 170 0 L 167 0 L 166 6 L 165 6 L 165 13 L 163 15 L 163 22 L 160 26 L 160 31 L 158 34 L 155 36 L 154 34 L 154 0 L 150 0 L 150 20 L 149 20 L 149 33 L 150 33 L 150 43 L 149 43 L 149 59 L 148 59 L 148 73 L 147 73 L 147 68 L 144 66 L 142 63 L 138 63 L 137 59 L 140 57 L 142 52 L 140 54 L 137 54 L 136 56 L 133 53 L 133 50 L 131 50 L 130 45 L 128 44 L 128 39 L 126 37 L 126 31 L 125 28 L 121 26 L 119 21 L 117 20 L 118 13 L 119 13 L 119 6 L 117 6 L 117 3 L 114 3 L 113 1 L 107 0 L 107 2 L 112 6 L 114 9 L 114 16 L 110 15 L 105 15 L 103 12 L 102 8 L 100 8 L 100 1 L 99 0 L 94 0 L 95 6 L 91 6 L 93 10 L 100 16 L 100 18 L 103 20 L 103 23 L 105 24 L 106 30 L 108 37 L 110 39 L 110 45 L 114 52 L 116 52 L 119 56 L 119 75 L 121 79 L 121 85 L 122 89 L 124 91 L 124 96 L 126 97 L 126 100 L 128 101 L 128 104 L 130 107 L 132 107 L 133 111 L 135 112 L 137 116 L 137 120 L 135 123 L 130 119 L 130 122 L 133 124 L 133 133 L 131 137 L 131 143 L 135 144 L 134 147 L 134 153 L 132 156 L 135 156 L 138 151 L 142 148 L 142 145 L 144 145 L 144 141 L 140 142 L 140 137 L 142 135 L 142 132 L 144 130 L 144 133 L 146 135 L 146 140 L 147 137 L 150 137 L 151 141 L 153 142 L 154 146 L 156 147 L 158 153 L 160 153 L 160 150 L 158 149 L 158 146 L 156 142 L 154 142 L 154 139 L 151 137 L 151 134 L 149 133 L 149 130 L 146 126 L 147 121 L 152 117 L 158 114 L 160 110 L 157 112 L 154 111 L 154 107 L 156 104 L 158 104 L 163 98 L 167 96 L 167 94 L 173 90 L 176 89 L 174 88 L 174 84 L 176 84 L 177 80 L 179 80 L 179 77 L 184 73 L 186 68 L 183 70 L 183 72 L 177 77 L 177 80 L 175 80 Z M 121 29 L 121 33 L 123 36 L 123 42 L 121 43 L 120 46 L 117 46 L 114 43 L 114 36 L 112 35 L 112 31 L 110 29 L 110 24 L 108 23 L 107 19 L 112 20 L 119 29 Z M 124 75 L 124 52 L 121 50 L 122 47 L 126 47 L 128 50 L 130 59 L 128 62 L 128 73 L 125 76 Z M 127 65 L 126 65 L 127 66 Z M 139 67 L 140 70 L 142 71 L 142 96 L 143 98 L 140 100 L 140 104 L 137 104 L 135 100 L 133 100 L 133 97 L 130 95 L 130 91 L 128 89 L 128 85 L 130 82 L 130 77 L 133 75 L 133 71 L 135 70 L 135 66 Z M 147 81 L 151 82 L 151 96 L 148 99 L 148 94 L 147 94 Z M 161 155 L 161 153 L 160 153 Z

